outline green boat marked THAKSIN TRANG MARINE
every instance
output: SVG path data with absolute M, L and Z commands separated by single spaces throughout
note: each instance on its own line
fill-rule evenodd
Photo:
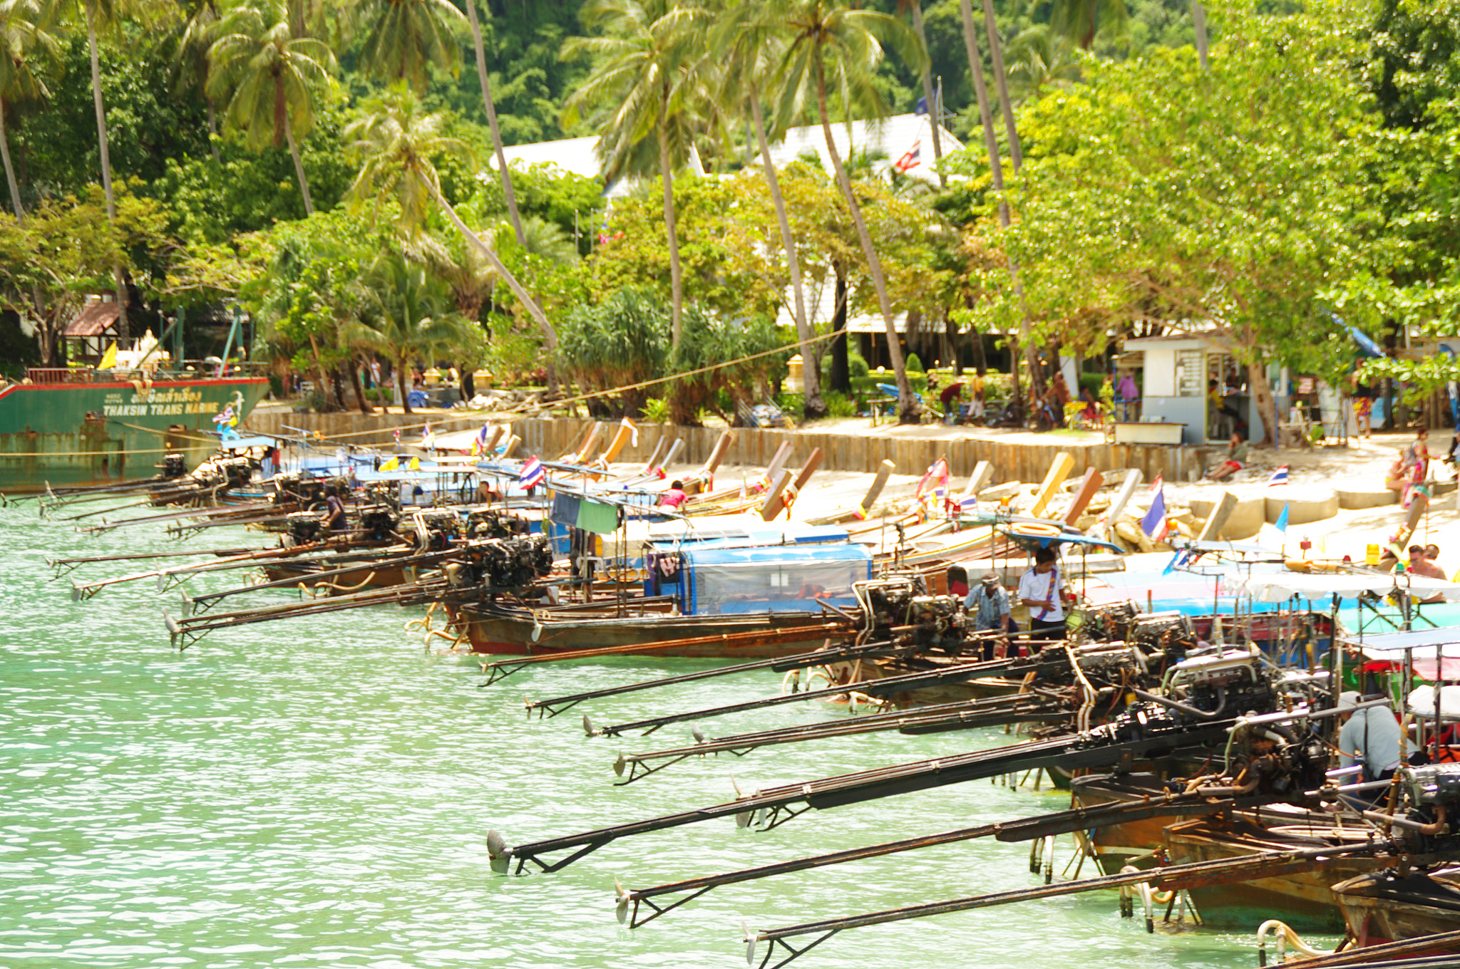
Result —
M 31 368 L 0 385 L 0 492 L 152 477 L 165 454 L 197 467 L 218 451 L 215 417 L 241 422 L 269 393 L 263 377 Z

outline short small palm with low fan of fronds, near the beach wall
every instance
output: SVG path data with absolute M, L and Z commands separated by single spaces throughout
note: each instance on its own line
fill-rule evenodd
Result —
M 426 267 L 394 250 L 375 257 L 361 276 L 365 308 L 358 320 L 340 328 L 349 346 L 387 358 L 404 410 L 410 413 L 406 374 L 416 356 L 432 356 L 466 339 L 469 324 L 454 312 L 445 286 Z

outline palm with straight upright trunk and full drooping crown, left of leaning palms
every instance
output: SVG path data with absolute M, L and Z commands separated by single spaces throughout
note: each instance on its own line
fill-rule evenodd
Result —
M 593 73 L 564 105 L 571 127 L 584 111 L 609 105 L 600 126 L 603 175 L 615 181 L 645 174 L 645 155 L 657 149 L 664 190 L 664 236 L 669 244 L 670 333 L 679 346 L 685 290 L 675 231 L 675 169 L 689 158 L 689 105 L 696 101 L 704 58 L 696 42 L 708 12 L 685 0 L 588 0 L 580 15 L 588 29 L 604 36 L 575 36 L 562 55 L 588 54 Z

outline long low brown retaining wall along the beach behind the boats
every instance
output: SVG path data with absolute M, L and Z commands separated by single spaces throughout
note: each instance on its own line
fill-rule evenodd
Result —
M 295 414 L 283 412 L 256 412 L 250 414 L 245 428 L 264 433 L 292 433 L 289 429 L 318 431 L 321 436 L 355 442 L 361 445 L 390 447 L 394 444 L 391 429 L 402 432 L 404 444 L 420 438 L 420 425 L 429 419 L 437 433 L 477 428 L 480 416 L 458 417 L 441 414 L 375 414 L 333 413 Z M 542 458 L 559 458 L 578 447 L 593 422 L 583 417 L 518 419 L 512 422 L 512 433 L 521 436 L 518 457 L 536 454 Z M 610 439 L 615 425 L 609 423 L 600 435 L 599 449 Z M 619 461 L 647 461 L 661 436 L 680 438 L 685 448 L 680 464 L 702 464 L 720 438 L 715 428 L 676 428 L 673 425 L 644 425 L 639 428 L 638 445 L 626 447 Z M 1007 438 L 1007 439 L 1006 439 Z M 1013 438 L 1018 438 L 1015 441 Z M 1110 474 L 1124 468 L 1140 468 L 1146 480 L 1156 474 L 1168 482 L 1187 480 L 1188 474 L 1202 471 L 1199 448 L 1158 445 L 1117 445 L 1102 441 L 1083 444 L 1079 438 L 1064 435 L 1006 435 L 996 438 L 912 438 L 898 436 L 895 428 L 886 435 L 818 433 L 815 431 L 766 431 L 737 428 L 734 444 L 726 454 L 724 464 L 765 467 L 783 442 L 790 442 L 793 451 L 787 463 L 799 467 L 812 448 L 821 448 L 822 468 L 828 471 L 876 473 L 883 460 L 896 466 L 898 474 L 921 474 L 937 458 L 946 457 L 955 479 L 972 474 L 978 461 L 993 467 L 994 484 L 1002 482 L 1041 482 L 1054 455 L 1067 452 L 1075 460 L 1070 471 L 1077 477 L 1086 468 L 1098 468 Z M 667 447 L 667 445 L 666 445 Z

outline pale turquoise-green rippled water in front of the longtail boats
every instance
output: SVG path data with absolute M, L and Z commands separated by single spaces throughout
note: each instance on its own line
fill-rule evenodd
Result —
M 780 676 L 632 693 L 529 721 L 524 693 L 705 664 L 545 665 L 477 689 L 476 663 L 426 652 L 403 632 L 418 613 L 397 609 L 248 626 L 178 652 L 162 626 L 175 592 L 139 582 L 72 603 L 69 584 L 45 568 L 47 556 L 177 547 L 164 538 L 161 527 L 79 536 L 38 520 L 34 503 L 0 509 L 0 966 L 729 969 L 745 965 L 742 919 L 791 925 L 1040 879 L 1026 845 L 971 842 L 718 889 L 632 933 L 615 921 L 613 880 L 644 887 L 1067 806 L 1048 791 L 977 782 L 810 813 L 772 832 L 707 822 L 615 842 L 555 874 L 498 876 L 491 827 L 521 843 L 721 803 L 731 776 L 750 790 L 994 746 L 1004 734 L 848 737 L 686 762 L 615 788 L 619 750 L 680 746 L 689 725 L 588 740 L 581 711 L 623 722 L 765 696 Z M 261 544 L 242 530 L 194 541 Z M 193 587 L 237 584 L 215 575 Z M 837 715 L 787 706 L 702 728 L 723 736 Z M 1067 838 L 1057 857 L 1058 871 L 1073 857 Z M 1148 935 L 1140 919 L 1118 916 L 1114 893 L 1094 893 L 847 931 L 793 965 L 1225 969 L 1256 965 L 1254 930 Z

